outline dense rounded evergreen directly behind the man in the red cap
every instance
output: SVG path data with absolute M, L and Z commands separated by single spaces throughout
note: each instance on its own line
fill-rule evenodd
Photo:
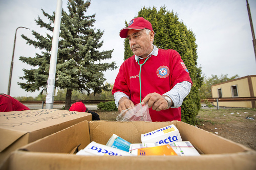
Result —
M 189 75 L 193 81 L 190 93 L 181 105 L 181 120 L 185 123 L 195 125 L 196 115 L 201 109 L 199 88 L 202 86 L 201 68 L 197 66 L 197 44 L 196 37 L 188 30 L 183 21 L 179 21 L 178 15 L 161 7 L 159 11 L 143 7 L 136 17 L 144 17 L 152 23 L 155 32 L 154 44 L 158 48 L 176 50 L 184 61 Z M 125 22 L 127 27 L 127 22 Z M 129 41 L 124 41 L 124 59 L 133 56 Z

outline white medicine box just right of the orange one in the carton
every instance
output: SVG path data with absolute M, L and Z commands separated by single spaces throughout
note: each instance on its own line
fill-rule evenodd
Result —
M 200 156 L 200 154 L 189 141 L 174 142 L 174 145 L 175 147 L 173 147 L 173 149 L 180 156 Z

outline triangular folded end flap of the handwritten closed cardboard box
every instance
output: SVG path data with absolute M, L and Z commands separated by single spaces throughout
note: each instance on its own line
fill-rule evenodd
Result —
M 26 132 L 22 131 L 13 131 L 9 129 L 1 129 L 0 131 L 0 152 L 4 151 L 9 145 L 15 142 L 18 138 L 25 135 Z M 5 140 L 3 140 L 5 139 Z

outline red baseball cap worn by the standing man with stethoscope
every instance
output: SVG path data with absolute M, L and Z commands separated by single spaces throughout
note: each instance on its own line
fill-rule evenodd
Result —
M 133 30 L 143 30 L 143 29 L 148 29 L 153 31 L 152 25 L 150 23 L 150 21 L 144 19 L 143 17 L 138 17 L 138 18 L 134 18 L 130 21 L 128 27 L 123 28 L 119 35 L 121 38 L 127 38 L 127 33 L 129 31 L 129 29 L 133 29 Z

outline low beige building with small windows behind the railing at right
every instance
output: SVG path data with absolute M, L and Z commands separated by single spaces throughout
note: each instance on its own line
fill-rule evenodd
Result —
M 211 86 L 212 98 L 247 98 L 256 96 L 256 75 L 245 76 Z M 217 102 L 214 102 L 217 106 Z M 219 106 L 256 108 L 255 101 L 219 102 Z

